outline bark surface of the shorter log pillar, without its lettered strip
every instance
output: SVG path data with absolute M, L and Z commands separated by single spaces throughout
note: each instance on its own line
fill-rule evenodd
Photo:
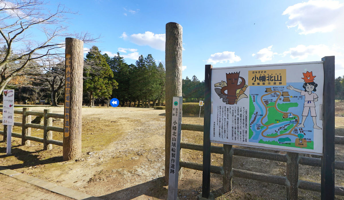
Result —
M 81 155 L 81 107 L 83 98 L 84 42 L 66 38 L 65 53 L 71 55 L 71 88 L 69 106 L 69 136 L 63 137 L 63 160 Z

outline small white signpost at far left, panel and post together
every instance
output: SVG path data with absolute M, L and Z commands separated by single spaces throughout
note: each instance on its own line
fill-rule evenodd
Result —
M 11 154 L 12 126 L 14 125 L 14 90 L 3 90 L 2 125 L 7 125 L 6 154 Z

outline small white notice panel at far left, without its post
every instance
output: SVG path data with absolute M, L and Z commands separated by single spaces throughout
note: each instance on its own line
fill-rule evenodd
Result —
M 3 90 L 2 125 L 14 125 L 14 90 Z

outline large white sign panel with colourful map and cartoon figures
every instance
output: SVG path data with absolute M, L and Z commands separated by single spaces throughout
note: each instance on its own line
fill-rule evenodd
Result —
M 213 68 L 211 82 L 211 142 L 322 154 L 322 61 Z

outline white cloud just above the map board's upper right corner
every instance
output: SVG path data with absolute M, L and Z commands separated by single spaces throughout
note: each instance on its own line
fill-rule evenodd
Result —
M 333 47 L 330 48 L 326 45 L 320 44 L 320 45 L 298 45 L 296 47 L 289 48 L 289 50 L 283 52 L 283 56 L 290 55 L 290 58 L 292 59 L 306 59 L 308 56 L 318 56 L 319 58 L 322 58 L 324 56 L 341 56 L 342 53 L 337 51 L 338 48 Z

